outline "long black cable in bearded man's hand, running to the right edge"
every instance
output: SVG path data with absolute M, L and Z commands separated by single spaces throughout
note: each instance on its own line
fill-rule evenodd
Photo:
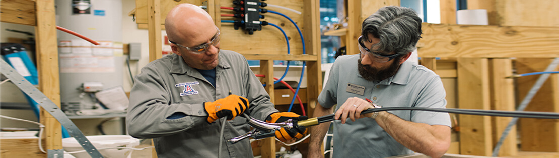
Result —
M 498 117 L 522 117 L 531 119 L 559 119 L 559 113 L 555 112 L 530 112 L 530 111 L 497 111 L 497 110 L 475 110 L 475 109 L 456 109 L 456 108 L 425 108 L 425 107 L 383 107 L 383 108 L 369 108 L 361 112 L 371 113 L 380 111 L 392 110 L 418 110 L 418 111 L 432 111 L 432 112 L 447 112 L 458 113 L 466 115 L 480 115 L 480 116 L 498 116 Z M 334 121 L 334 114 L 326 115 L 317 118 L 319 124 L 324 122 Z

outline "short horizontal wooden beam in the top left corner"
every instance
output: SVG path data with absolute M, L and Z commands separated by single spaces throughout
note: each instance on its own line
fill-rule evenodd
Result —
M 2 0 L 0 21 L 36 26 L 35 6 L 35 1 L 32 0 Z

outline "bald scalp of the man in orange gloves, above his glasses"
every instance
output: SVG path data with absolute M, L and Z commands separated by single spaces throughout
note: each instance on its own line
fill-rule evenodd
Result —
M 170 41 L 177 43 L 188 43 L 192 38 L 203 36 L 206 31 L 214 32 L 214 26 L 214 20 L 209 13 L 190 3 L 178 4 L 165 18 L 167 36 Z M 208 28 L 211 30 L 206 30 Z

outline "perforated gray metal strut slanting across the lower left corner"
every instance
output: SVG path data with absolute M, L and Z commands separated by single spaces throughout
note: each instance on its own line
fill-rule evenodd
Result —
M 8 65 L 6 61 L 0 60 L 0 69 L 1 73 L 6 76 L 10 81 L 20 88 L 27 96 L 31 97 L 35 102 L 39 103 L 39 105 L 45 109 L 45 111 L 49 112 L 58 122 L 60 125 L 64 126 L 70 136 L 74 137 L 75 140 L 78 141 L 79 145 L 83 147 L 84 150 L 87 151 L 87 154 L 91 157 L 103 157 L 95 149 L 95 147 L 87 140 L 87 138 L 82 134 L 82 131 L 79 131 L 78 127 L 74 125 L 70 119 L 56 106 L 56 104 L 51 101 L 48 97 L 45 96 L 41 91 L 39 91 L 35 86 L 31 85 L 29 81 L 27 81 L 23 76 L 20 75 L 16 70 L 12 68 L 12 66 Z

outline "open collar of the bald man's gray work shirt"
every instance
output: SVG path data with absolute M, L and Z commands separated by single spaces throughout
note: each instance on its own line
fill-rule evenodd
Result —
M 222 55 L 223 53 L 219 53 L 218 54 L 218 60 L 219 63 L 217 63 L 216 66 L 216 70 L 219 70 L 220 68 L 230 68 L 230 64 L 225 60 L 224 55 Z M 194 72 L 198 72 L 198 70 L 196 70 L 195 68 L 192 68 L 190 66 L 188 66 L 186 64 L 186 62 L 184 62 L 182 56 L 179 56 L 175 53 L 173 53 L 172 55 L 172 67 L 170 70 L 170 73 L 178 73 L 178 74 L 193 74 Z

